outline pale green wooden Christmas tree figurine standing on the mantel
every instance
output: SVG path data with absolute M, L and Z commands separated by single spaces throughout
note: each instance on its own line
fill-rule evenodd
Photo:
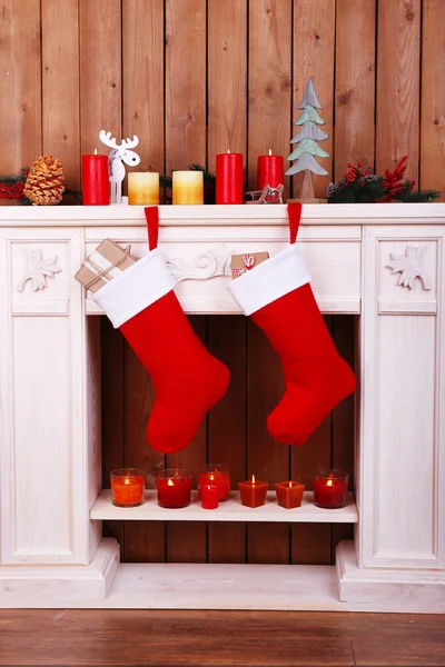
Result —
M 327 175 L 326 169 L 320 167 L 315 156 L 318 158 L 329 157 L 329 153 L 323 150 L 317 143 L 317 141 L 327 139 L 329 135 L 318 127 L 325 125 L 325 121 L 317 111 L 317 109 L 322 109 L 322 104 L 315 92 L 312 77 L 307 82 L 305 94 L 298 104 L 298 109 L 301 109 L 303 113 L 294 125 L 301 126 L 301 129 L 290 141 L 290 143 L 297 143 L 297 146 L 287 159 L 291 162 L 295 160 L 295 165 L 286 171 L 286 176 L 294 176 L 294 173 L 304 171 L 301 188 L 297 197 L 307 200 L 314 199 L 314 186 L 310 172 L 319 173 L 320 176 Z

